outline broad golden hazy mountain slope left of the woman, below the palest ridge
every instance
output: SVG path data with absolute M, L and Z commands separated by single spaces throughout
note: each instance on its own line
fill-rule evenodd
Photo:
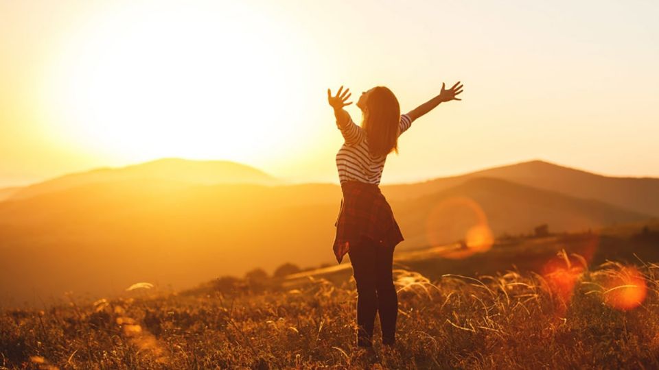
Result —
M 339 201 L 332 184 L 166 180 L 86 184 L 5 201 L 0 305 L 67 290 L 111 293 L 137 281 L 194 286 L 252 267 L 272 271 L 288 260 L 329 262 Z

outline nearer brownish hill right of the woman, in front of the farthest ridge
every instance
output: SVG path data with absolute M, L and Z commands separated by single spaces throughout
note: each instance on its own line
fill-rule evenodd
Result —
M 461 199 L 470 199 L 483 211 L 495 236 L 528 234 L 543 223 L 554 232 L 586 231 L 652 218 L 597 200 L 487 177 L 476 177 L 438 193 L 391 201 L 391 204 L 404 235 L 417 246 L 430 241 L 452 243 L 465 237 L 477 222 L 477 215 L 474 206 Z

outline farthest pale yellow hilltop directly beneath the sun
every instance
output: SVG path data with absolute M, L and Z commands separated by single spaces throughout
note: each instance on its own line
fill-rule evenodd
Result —
M 25 199 L 84 184 L 135 179 L 170 180 L 205 185 L 235 183 L 275 185 L 282 183 L 259 169 L 236 162 L 163 158 L 126 167 L 93 169 L 63 175 L 18 188 L 6 199 Z M 3 198 L 0 193 L 1 199 Z

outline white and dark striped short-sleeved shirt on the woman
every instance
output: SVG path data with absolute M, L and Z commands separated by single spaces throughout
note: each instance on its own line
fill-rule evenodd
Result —
M 371 156 L 367 134 L 362 127 L 356 125 L 349 119 L 345 125 L 336 123 L 343 134 L 345 143 L 336 153 L 336 169 L 338 169 L 338 180 L 340 183 L 356 180 L 368 184 L 380 184 L 382 170 L 384 169 L 384 156 Z M 401 114 L 398 128 L 400 136 L 412 125 L 412 119 L 408 114 Z

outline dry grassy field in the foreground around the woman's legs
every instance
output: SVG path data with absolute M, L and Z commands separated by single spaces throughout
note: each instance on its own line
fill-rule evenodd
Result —
M 564 248 L 590 245 L 591 237 L 527 238 L 452 262 L 480 271 L 467 275 L 430 268 L 442 259 L 423 252 L 400 258 L 397 345 L 382 351 L 376 319 L 374 356 L 354 345 L 356 286 L 343 268 L 287 279 L 223 277 L 175 294 L 143 284 L 124 297 L 4 310 L 0 368 L 659 368 L 659 265 L 599 261 L 613 251 L 603 236 L 590 263 Z M 655 237 L 625 243 L 649 253 Z M 539 269 L 496 262 L 533 261 L 524 258 L 529 243 L 544 260 Z

